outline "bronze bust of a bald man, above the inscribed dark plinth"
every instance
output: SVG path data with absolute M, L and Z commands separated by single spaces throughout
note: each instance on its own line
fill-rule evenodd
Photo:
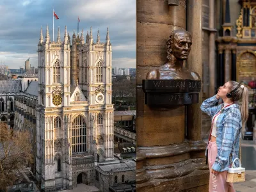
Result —
M 148 72 L 146 79 L 189 79 L 200 80 L 196 72 L 183 67 L 184 60 L 188 60 L 191 50 L 192 37 L 184 29 L 172 31 L 167 44 L 168 62 L 158 69 Z

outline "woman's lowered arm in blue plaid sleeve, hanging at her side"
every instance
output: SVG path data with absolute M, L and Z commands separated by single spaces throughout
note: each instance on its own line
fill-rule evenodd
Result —
M 212 169 L 217 172 L 220 172 L 222 164 L 228 161 L 234 142 L 241 130 L 241 117 L 238 110 L 235 108 L 230 109 L 224 119 L 221 147 L 218 150 L 216 161 L 212 165 Z

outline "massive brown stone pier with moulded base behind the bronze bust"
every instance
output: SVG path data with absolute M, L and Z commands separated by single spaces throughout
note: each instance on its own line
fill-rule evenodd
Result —
M 147 72 L 166 63 L 166 40 L 174 29 L 186 29 L 187 1 L 168 6 L 167 1 L 137 1 L 137 161 L 138 192 L 207 191 L 208 166 L 205 145 L 201 140 L 201 115 L 191 128 L 191 142 L 185 140 L 186 112 L 177 109 L 149 108 L 144 104 L 142 79 Z M 191 9 L 193 45 L 190 69 L 202 76 L 202 0 L 194 1 Z M 194 10 L 195 9 L 195 10 Z M 190 24 L 190 23 L 189 23 Z M 189 25 L 188 24 L 188 25 Z M 198 52 L 199 51 L 199 52 Z M 196 66 L 192 66 L 196 65 Z M 202 94 L 200 95 L 202 97 Z M 196 109 L 198 106 L 196 107 Z M 200 111 L 196 111 L 196 114 Z M 194 119 L 194 118 L 193 118 Z M 195 127 L 198 126 L 198 127 Z

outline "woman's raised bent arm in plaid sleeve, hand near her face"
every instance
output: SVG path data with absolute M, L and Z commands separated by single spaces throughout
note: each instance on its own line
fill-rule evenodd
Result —
M 213 97 L 210 97 L 209 99 L 205 99 L 204 102 L 201 105 L 201 110 L 204 111 L 204 113 L 207 113 L 209 116 L 214 116 L 218 111 L 218 106 L 215 106 L 216 103 L 219 101 L 220 97 L 218 95 L 214 95 Z

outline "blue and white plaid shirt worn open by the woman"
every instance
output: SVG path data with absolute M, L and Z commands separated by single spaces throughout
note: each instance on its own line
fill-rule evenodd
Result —
M 211 118 L 218 113 L 223 104 L 215 106 L 219 100 L 216 95 L 204 100 L 201 109 Z M 222 112 L 217 118 L 216 123 L 216 144 L 218 148 L 218 155 L 216 161 L 212 165 L 212 169 L 217 172 L 228 170 L 229 165 L 236 159 L 239 151 L 239 134 L 242 129 L 241 113 L 238 104 L 232 104 L 223 108 Z M 230 162 L 230 154 L 232 161 Z M 235 163 L 239 166 L 239 163 Z

